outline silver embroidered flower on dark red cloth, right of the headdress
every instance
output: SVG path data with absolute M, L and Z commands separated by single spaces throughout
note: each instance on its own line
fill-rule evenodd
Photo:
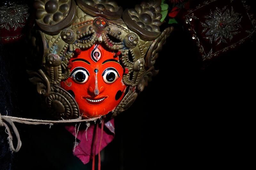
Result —
M 216 7 L 216 10 L 212 12 L 210 10 L 210 15 L 204 16 L 207 18 L 205 23 L 201 22 L 201 25 L 205 27 L 202 30 L 202 33 L 206 32 L 205 39 L 212 41 L 218 41 L 217 45 L 221 42 L 227 43 L 226 39 L 231 41 L 233 36 L 238 34 L 237 31 L 241 28 L 239 24 L 241 22 L 242 17 L 239 17 L 239 13 L 235 13 L 233 7 L 231 10 L 226 9 L 227 6 L 224 6 L 222 10 Z

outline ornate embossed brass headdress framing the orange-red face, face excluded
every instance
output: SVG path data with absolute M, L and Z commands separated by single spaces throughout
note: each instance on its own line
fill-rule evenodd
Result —
M 40 27 L 32 37 L 36 49 L 37 71 L 29 71 L 30 80 L 44 96 L 57 118 L 79 116 L 75 99 L 59 83 L 70 77 L 69 59 L 76 49 L 104 43 L 121 52 L 120 60 L 127 70 L 123 82 L 128 86 L 113 116 L 123 112 L 143 91 L 153 75 L 158 52 L 172 32 L 160 32 L 161 1 L 151 0 L 123 12 L 112 0 L 36 0 L 36 23 Z M 122 18 L 121 18 L 122 17 Z

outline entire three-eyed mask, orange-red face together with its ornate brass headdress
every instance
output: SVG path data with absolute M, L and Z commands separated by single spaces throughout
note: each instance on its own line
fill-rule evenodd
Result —
M 151 0 L 123 12 L 112 0 L 35 1 L 39 30 L 32 36 L 37 50 L 29 75 L 55 117 L 115 116 L 132 105 L 157 74 L 155 60 L 173 30 L 160 32 L 160 5 Z M 82 89 L 89 86 L 93 94 L 86 97 Z M 112 89 L 105 104 L 97 100 L 102 87 Z M 98 112 L 103 104 L 108 109 Z

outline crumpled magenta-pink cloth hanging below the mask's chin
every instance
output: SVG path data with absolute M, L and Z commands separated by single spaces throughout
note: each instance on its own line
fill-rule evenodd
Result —
M 99 122 L 97 122 L 99 123 Z M 96 137 L 96 124 L 91 123 L 90 127 L 87 129 L 87 140 L 85 136 L 85 129 L 80 129 L 77 133 L 77 139 L 80 140 L 76 142 L 75 152 L 73 152 L 74 156 L 78 157 L 84 164 L 87 164 L 92 158 L 93 153 L 96 149 L 96 154 L 99 153 L 100 146 L 100 138 L 101 138 L 101 124 L 98 125 L 98 133 L 97 133 L 97 144 L 96 148 L 94 146 L 94 137 Z M 78 126 L 77 126 L 78 127 Z M 76 128 L 77 128 L 76 127 Z M 65 126 L 65 128 L 75 136 L 75 126 Z M 103 128 L 103 136 L 100 146 L 100 151 L 106 147 L 115 136 L 115 127 L 114 127 L 114 119 L 104 123 Z

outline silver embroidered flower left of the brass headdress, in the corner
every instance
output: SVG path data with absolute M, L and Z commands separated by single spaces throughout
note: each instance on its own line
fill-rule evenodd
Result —
M 15 3 L 5 3 L 0 7 L 0 28 L 10 30 L 24 27 L 25 19 L 28 17 L 28 6 Z

